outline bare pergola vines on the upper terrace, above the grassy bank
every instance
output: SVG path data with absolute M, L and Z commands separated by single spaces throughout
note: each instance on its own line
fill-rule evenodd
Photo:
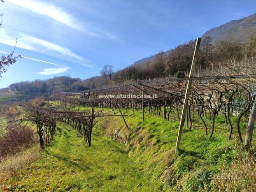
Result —
M 192 61 L 191 72 L 193 73 L 196 70 L 194 69 L 194 65 L 196 65 L 194 60 L 198 56 L 199 44 L 200 41 L 195 47 Z M 256 91 L 256 73 L 254 72 L 256 69 L 249 65 L 226 65 L 226 67 L 217 66 L 216 68 L 212 66 L 213 76 L 208 72 L 205 73 L 207 69 L 201 73 L 200 66 L 198 68 L 197 77 L 191 76 L 190 72 L 188 78 L 161 77 L 147 79 L 109 88 L 89 90 L 87 93 L 60 93 L 58 96 L 48 98 L 48 100 L 64 102 L 73 106 L 109 108 L 112 109 L 113 113 L 115 113 L 113 108 L 118 108 L 120 112 L 120 109 L 141 111 L 142 121 L 144 121 L 144 113 L 149 113 L 151 116 L 163 120 L 179 120 L 180 128 L 183 127 L 186 114 L 186 128 L 189 131 L 193 127 L 192 118 L 197 113 L 205 127 L 206 135 L 209 134 L 209 127 L 205 123 L 205 118 L 209 116 L 209 119 L 212 120 L 209 139 L 214 134 L 215 120 L 218 115 L 223 115 L 225 123 L 230 126 L 229 139 L 231 139 L 234 125 L 231 123 L 230 116 L 235 115 L 237 116 L 236 130 L 238 138 L 242 142 L 240 121 L 243 116 L 247 116 L 247 119 L 249 119 L 247 113 L 253 105 Z M 184 96 L 182 93 L 186 92 L 186 80 L 189 81 L 189 94 Z M 120 94 L 126 97 L 120 98 Z M 137 97 L 138 95 L 141 97 Z M 150 95 L 151 97 L 148 97 Z M 157 98 L 152 97 L 152 95 L 157 95 Z M 184 98 L 185 101 L 183 101 Z M 183 106 L 182 111 L 181 106 Z M 121 116 L 123 117 L 122 113 Z M 128 128 L 127 124 L 126 126 Z M 182 129 L 180 130 L 182 131 Z M 181 132 L 179 132 L 180 135 Z M 250 139 L 251 136 L 249 136 Z M 246 145 L 249 145 L 248 135 L 246 137 Z

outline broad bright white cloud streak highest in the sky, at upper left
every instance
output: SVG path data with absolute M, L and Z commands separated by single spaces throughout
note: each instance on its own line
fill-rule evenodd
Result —
M 67 25 L 68 27 L 75 30 L 79 30 L 80 32 L 87 35 L 106 39 L 118 39 L 116 35 L 105 32 L 104 30 L 93 28 L 88 23 L 85 24 L 79 21 L 72 14 L 67 13 L 60 7 L 56 7 L 52 4 L 36 0 L 9 0 L 8 2 L 11 2 L 14 5 L 21 6 L 25 9 L 29 9 L 30 11 L 37 14 L 49 16 L 51 19 L 54 19 L 55 21 Z

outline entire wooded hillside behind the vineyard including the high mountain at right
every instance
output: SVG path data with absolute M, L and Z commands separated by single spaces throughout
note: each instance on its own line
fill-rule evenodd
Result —
M 244 19 L 230 21 L 220 27 L 207 31 L 202 36 L 198 65 L 201 69 L 220 66 L 223 61 L 237 63 L 252 60 L 256 56 L 256 14 Z M 242 38 L 240 38 L 242 37 Z M 49 96 L 61 91 L 82 91 L 119 82 L 149 79 L 160 76 L 186 73 L 191 66 L 195 41 L 191 40 L 175 49 L 143 58 L 124 69 L 105 71 L 84 81 L 69 76 L 55 77 L 46 81 L 14 83 L 10 89 L 33 96 Z M 108 73 L 108 75 L 106 75 Z

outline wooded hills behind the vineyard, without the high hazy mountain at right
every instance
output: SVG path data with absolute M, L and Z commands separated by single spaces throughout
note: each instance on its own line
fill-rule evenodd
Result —
M 211 37 L 202 39 L 198 66 L 201 69 L 221 66 L 223 61 L 237 63 L 251 62 L 256 56 L 256 36 L 251 36 L 248 43 L 233 41 L 219 41 L 216 45 L 211 43 Z M 175 75 L 177 72 L 186 73 L 190 69 L 195 41 L 177 46 L 168 55 L 161 51 L 154 60 L 138 63 L 121 69 L 117 72 L 102 72 L 101 76 L 91 77 L 82 81 L 79 78 L 60 76 L 48 80 L 35 80 L 10 85 L 10 90 L 34 96 L 50 96 L 63 91 L 82 91 L 119 82 L 149 79 L 160 76 Z M 107 69 L 108 70 L 108 69 Z M 105 73 L 109 73 L 106 75 Z

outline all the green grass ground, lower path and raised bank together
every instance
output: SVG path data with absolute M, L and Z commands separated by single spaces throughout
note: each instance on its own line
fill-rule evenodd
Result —
M 16 190 L 213 190 L 210 179 L 196 180 L 195 174 L 204 171 L 209 178 L 222 164 L 237 158 L 236 139 L 228 140 L 223 117 L 216 121 L 210 141 L 195 114 L 192 132 L 183 133 L 178 153 L 174 148 L 179 123 L 149 115 L 142 122 L 140 112 L 126 120 L 131 130 L 121 117 L 96 118 L 91 148 L 71 127 L 58 124 L 62 133 L 42 152 L 43 157 L 8 178 L 5 186 L 16 183 Z M 105 136 L 113 136 L 116 130 L 116 140 L 126 145 Z

